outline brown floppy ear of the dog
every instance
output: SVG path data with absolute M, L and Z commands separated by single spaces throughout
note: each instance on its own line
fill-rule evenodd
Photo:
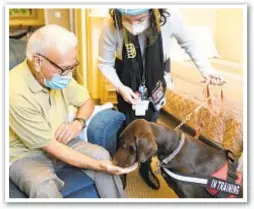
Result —
M 157 144 L 153 134 L 136 137 L 138 162 L 144 163 L 157 153 Z

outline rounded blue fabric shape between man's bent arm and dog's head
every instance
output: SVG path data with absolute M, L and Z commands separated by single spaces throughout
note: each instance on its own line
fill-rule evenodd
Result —
M 98 112 L 87 127 L 88 142 L 104 147 L 113 157 L 116 153 L 117 134 L 124 121 L 124 114 L 115 110 Z

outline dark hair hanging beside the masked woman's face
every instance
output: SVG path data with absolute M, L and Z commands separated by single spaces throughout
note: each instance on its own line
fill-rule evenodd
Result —
M 160 25 L 163 26 L 167 22 L 167 17 L 170 16 L 167 9 L 158 9 L 160 13 Z M 149 9 L 149 13 L 151 15 L 151 27 L 153 30 L 156 29 L 156 20 L 153 9 Z M 114 21 L 114 26 L 116 27 L 116 21 L 119 29 L 123 28 L 122 25 L 122 14 L 117 9 L 110 9 L 109 14 Z

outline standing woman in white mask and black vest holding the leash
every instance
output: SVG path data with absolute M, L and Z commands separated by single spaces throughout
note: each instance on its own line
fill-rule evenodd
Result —
M 166 87 L 172 81 L 172 37 L 205 79 L 215 85 L 225 82 L 198 52 L 178 13 L 166 9 L 111 9 L 100 35 L 98 67 L 117 89 L 117 107 L 126 116 L 125 126 L 140 117 L 156 122 L 165 104 Z M 149 186 L 158 189 L 159 181 L 150 162 L 141 164 L 139 171 Z

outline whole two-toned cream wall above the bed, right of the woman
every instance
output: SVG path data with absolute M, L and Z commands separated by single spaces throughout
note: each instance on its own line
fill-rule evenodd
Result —
M 238 8 L 182 8 L 190 26 L 209 26 L 222 59 L 243 61 L 243 10 Z

